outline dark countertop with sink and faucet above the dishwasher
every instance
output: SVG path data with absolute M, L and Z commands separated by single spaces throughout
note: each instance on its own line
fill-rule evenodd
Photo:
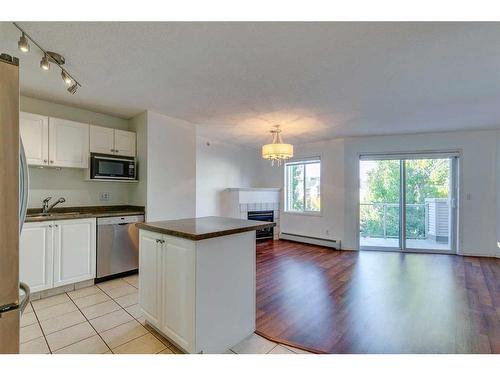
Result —
M 57 207 L 47 216 L 41 216 L 40 208 L 30 208 L 26 214 L 26 223 L 49 220 L 86 219 L 89 217 L 113 217 L 124 215 L 144 215 L 142 206 L 83 206 Z

